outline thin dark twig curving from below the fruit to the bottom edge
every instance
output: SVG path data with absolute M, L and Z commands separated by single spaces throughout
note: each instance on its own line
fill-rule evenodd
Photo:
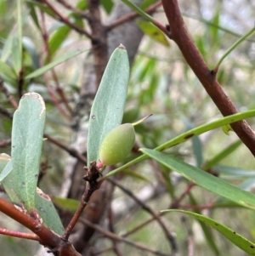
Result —
M 137 196 L 133 194 L 132 191 L 129 191 L 126 187 L 124 187 L 120 182 L 116 181 L 116 179 L 107 179 L 112 184 L 116 185 L 118 188 L 120 188 L 123 192 L 125 192 L 128 196 L 133 198 L 135 202 L 139 204 L 146 212 L 150 213 L 153 216 L 153 219 L 156 219 L 159 225 L 161 225 L 162 230 L 165 232 L 165 235 L 167 236 L 168 241 L 170 242 L 173 254 L 177 253 L 177 243 L 175 241 L 174 236 L 167 230 L 166 225 L 163 223 L 161 216 L 158 213 L 155 213 L 148 205 L 146 205 L 144 202 L 142 202 Z

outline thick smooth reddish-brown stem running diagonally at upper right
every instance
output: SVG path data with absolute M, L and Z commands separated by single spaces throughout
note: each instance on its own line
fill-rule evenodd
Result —
M 194 41 L 190 37 L 178 8 L 178 1 L 162 0 L 162 5 L 170 25 L 170 38 L 177 43 L 188 65 L 190 65 L 195 76 L 198 77 L 201 84 L 206 89 L 207 94 L 212 98 L 215 105 L 217 105 L 218 110 L 221 111 L 224 117 L 238 112 L 235 105 L 229 100 L 229 97 L 224 93 L 223 88 L 216 80 L 215 72 L 210 71 L 207 67 L 205 60 L 203 60 Z M 248 123 L 242 120 L 231 124 L 231 127 L 252 152 L 253 156 L 255 156 L 255 134 Z

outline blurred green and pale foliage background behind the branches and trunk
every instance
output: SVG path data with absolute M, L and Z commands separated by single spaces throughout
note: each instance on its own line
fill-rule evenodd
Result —
M 75 1 L 69 2 L 72 5 L 75 3 Z M 143 7 L 149 6 L 152 2 L 144 1 Z M 15 71 L 17 60 L 14 54 L 15 38 L 19 37 L 16 3 L 13 0 L 0 0 L 0 77 L 3 80 L 0 89 L 0 143 L 4 145 L 0 148 L 0 152 L 8 154 L 10 154 L 8 139 L 12 127 L 10 117 L 14 113 L 14 105 L 11 104 L 10 98 L 16 101 L 20 99 L 17 82 L 19 73 Z M 58 1 L 52 3 L 59 11 L 68 15 L 76 26 L 88 28 L 88 22 L 82 19 L 81 15 L 65 9 Z M 77 9 L 88 8 L 84 0 L 76 3 Z M 241 35 L 254 26 L 255 4 L 252 1 L 179 1 L 179 5 L 190 34 L 210 68 L 216 65 L 222 54 Z M 104 20 L 111 14 L 113 7 L 112 1 L 101 1 Z M 40 1 L 23 1 L 21 9 L 24 76 L 66 52 L 77 48 L 88 48 L 88 52 L 66 60 L 43 76 L 26 79 L 22 88 L 23 93 L 34 91 L 41 94 L 45 100 L 47 107 L 45 133 L 59 139 L 65 145 L 70 145 L 73 125 L 71 110 L 76 105 L 79 90 L 84 82 L 82 72 L 86 65 L 93 65 L 86 62 L 91 54 L 90 43 L 88 38 L 79 36 L 69 26 L 56 20 L 54 13 Z M 154 16 L 161 20 L 161 23 L 167 22 L 161 8 L 156 10 Z M 136 149 L 154 148 L 190 128 L 221 117 L 217 107 L 185 63 L 177 46 L 169 40 L 167 41 L 169 46 L 159 41 L 161 40 L 144 35 L 132 65 L 127 110 L 123 122 L 134 122 L 140 117 L 153 113 L 152 117 L 135 128 Z M 47 51 L 46 47 L 50 50 Z M 255 37 L 253 36 L 229 54 L 218 71 L 218 81 L 239 111 L 254 108 L 254 65 Z M 70 109 L 63 102 L 61 91 L 65 94 Z M 59 105 L 54 101 L 54 97 L 58 99 Z M 248 122 L 254 127 L 252 119 Z M 233 132 L 227 136 L 221 129 L 213 130 L 182 145 L 174 146 L 170 151 L 174 155 L 183 157 L 186 162 L 201 168 L 206 168 L 207 162 L 219 155 L 210 166 L 213 172 L 243 189 L 254 190 L 253 156 Z M 138 151 L 133 151 L 129 158 L 138 155 Z M 44 143 L 42 162 L 46 163 L 48 168 L 40 187 L 51 196 L 59 196 L 67 156 L 68 153 L 59 147 L 48 142 Z M 142 200 L 156 212 L 168 208 L 189 185 L 189 182 L 178 174 L 151 160 L 139 163 L 130 170 L 140 174 L 143 179 L 135 177 L 130 172 L 123 173 L 122 185 L 134 194 L 140 195 Z M 147 187 L 156 188 L 157 193 L 154 196 L 144 196 L 143 199 L 142 191 L 146 191 Z M 112 198 L 112 211 L 116 214 L 114 219 L 116 234 L 123 234 L 150 219 L 150 215 L 138 205 L 131 203 L 127 208 L 128 200 L 130 201 L 128 196 L 116 188 Z M 199 187 L 192 189 L 181 205 L 184 209 L 190 209 L 195 205 L 206 206 L 210 202 L 218 203 L 213 208 L 196 211 L 217 219 L 254 241 L 255 217 L 252 210 L 237 207 Z M 9 228 L 9 221 L 5 218 L 1 215 L 0 225 Z M 187 255 L 187 240 L 190 236 L 194 239 L 194 255 L 246 255 L 218 232 L 204 227 L 195 219 L 181 217 L 178 213 L 168 214 L 164 219 L 175 234 L 179 255 Z M 162 252 L 169 252 L 164 234 L 155 222 L 140 228 L 128 238 Z M 111 247 L 111 241 L 99 234 L 92 240 L 92 244 L 95 242 L 99 251 Z M 20 242 L 18 239 L 6 236 L 0 236 L 0 244 L 1 251 L 8 255 L 32 255 L 37 250 L 35 242 Z M 133 256 L 153 254 L 142 252 L 126 244 L 122 246 L 122 251 L 123 255 Z M 102 254 L 113 255 L 112 252 Z

